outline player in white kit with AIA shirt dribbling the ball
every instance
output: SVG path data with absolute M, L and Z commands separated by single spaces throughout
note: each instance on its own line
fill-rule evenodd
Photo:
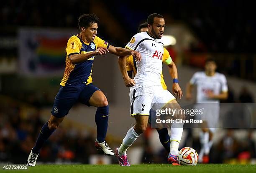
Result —
M 164 18 L 162 15 L 154 13 L 148 16 L 147 23 L 148 32 L 137 33 L 126 45 L 126 48 L 141 53 L 141 62 L 136 62 L 138 72 L 134 80 L 128 76 L 125 64 L 126 57 L 118 58 L 125 85 L 127 87 L 131 86 L 131 116 L 134 116 L 136 120 L 135 125 L 128 130 L 123 139 L 123 143 L 119 148 L 115 149 L 115 155 L 118 157 L 118 162 L 121 166 L 130 166 L 126 151 L 136 138 L 145 131 L 151 108 L 155 110 L 161 108 L 181 109 L 175 97 L 161 86 L 160 75 L 162 70 L 162 56 L 164 53 L 161 37 L 164 33 Z M 177 80 L 177 68 L 170 72 L 170 74 L 174 80 L 173 92 L 177 97 L 181 98 L 182 90 Z M 185 119 L 184 115 L 177 117 Z M 169 163 L 178 164 L 177 155 L 182 131 L 183 123 L 172 123 L 170 153 L 168 156 Z

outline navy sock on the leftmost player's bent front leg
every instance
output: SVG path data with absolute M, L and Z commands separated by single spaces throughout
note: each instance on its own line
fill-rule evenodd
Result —
M 95 115 L 95 122 L 97 125 L 97 141 L 105 141 L 108 130 L 108 105 L 98 107 Z

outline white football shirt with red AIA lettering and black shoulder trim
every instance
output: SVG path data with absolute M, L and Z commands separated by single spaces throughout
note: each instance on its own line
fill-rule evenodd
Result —
M 164 54 L 162 39 L 153 38 L 147 32 L 142 32 L 134 35 L 125 47 L 141 53 L 141 62 L 136 62 L 135 86 L 161 85 Z

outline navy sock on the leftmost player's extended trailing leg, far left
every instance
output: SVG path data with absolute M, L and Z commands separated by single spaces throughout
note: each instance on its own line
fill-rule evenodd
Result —
M 36 140 L 36 144 L 32 149 L 32 153 L 39 153 L 39 151 L 41 150 L 41 148 L 43 147 L 45 141 L 51 136 L 51 134 L 55 131 L 54 130 L 50 130 L 48 127 L 48 122 L 44 124 L 44 126 L 42 127 L 38 138 Z

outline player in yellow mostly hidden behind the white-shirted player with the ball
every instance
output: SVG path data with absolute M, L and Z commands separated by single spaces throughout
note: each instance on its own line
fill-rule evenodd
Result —
M 138 33 L 141 32 L 147 32 L 148 31 L 148 23 L 142 23 L 138 27 Z M 172 58 L 170 57 L 170 54 L 166 48 L 164 48 L 164 55 L 162 61 L 167 65 L 169 68 L 170 74 L 172 73 L 173 68 L 176 68 L 176 65 L 172 62 Z M 132 78 L 132 75 L 136 75 L 137 73 L 137 67 L 136 67 L 136 61 L 133 58 L 133 56 L 129 56 L 126 58 L 126 70 L 130 78 Z M 161 85 L 164 90 L 167 90 L 167 86 L 164 82 L 164 75 L 161 72 Z M 150 115 L 148 117 L 148 123 L 151 123 L 151 117 L 156 116 L 156 112 L 151 109 Z M 156 128 L 157 133 L 159 134 L 159 139 L 161 144 L 164 146 L 164 148 L 169 152 L 170 151 L 170 136 L 168 134 L 167 128 Z

